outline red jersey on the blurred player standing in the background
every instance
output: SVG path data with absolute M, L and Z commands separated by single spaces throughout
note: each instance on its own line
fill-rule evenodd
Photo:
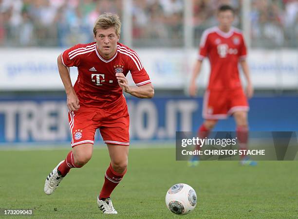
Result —
M 198 59 L 208 57 L 211 65 L 208 90 L 235 89 L 241 87 L 238 62 L 246 57 L 242 33 L 232 27 L 224 33 L 218 27 L 204 31 Z

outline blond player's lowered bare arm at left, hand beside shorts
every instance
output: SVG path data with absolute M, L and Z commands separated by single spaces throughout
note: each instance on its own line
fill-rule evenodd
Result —
M 79 99 L 75 94 L 74 87 L 70 78 L 69 68 L 63 65 L 61 55 L 57 58 L 58 71 L 65 88 L 67 95 L 67 107 L 71 111 L 78 110 L 80 108 Z

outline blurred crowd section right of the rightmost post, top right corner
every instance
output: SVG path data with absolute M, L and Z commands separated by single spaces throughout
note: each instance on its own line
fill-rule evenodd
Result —
M 254 0 L 250 17 L 255 46 L 298 47 L 298 0 Z

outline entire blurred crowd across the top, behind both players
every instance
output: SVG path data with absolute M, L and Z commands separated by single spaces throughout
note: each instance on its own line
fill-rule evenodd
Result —
M 235 8 L 234 25 L 241 28 L 242 0 L 191 1 L 196 42 L 205 28 L 216 25 L 223 3 Z M 134 46 L 183 46 L 186 0 L 131 2 Z M 95 19 L 103 12 L 122 18 L 124 6 L 124 0 L 0 0 L 0 46 L 67 47 L 93 41 Z M 253 46 L 298 46 L 298 0 L 252 0 L 250 18 Z

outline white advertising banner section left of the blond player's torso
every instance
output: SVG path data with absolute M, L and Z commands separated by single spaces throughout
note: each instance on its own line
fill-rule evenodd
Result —
M 0 90 L 61 90 L 59 49 L 1 49 Z M 71 74 L 72 81 L 77 73 Z

